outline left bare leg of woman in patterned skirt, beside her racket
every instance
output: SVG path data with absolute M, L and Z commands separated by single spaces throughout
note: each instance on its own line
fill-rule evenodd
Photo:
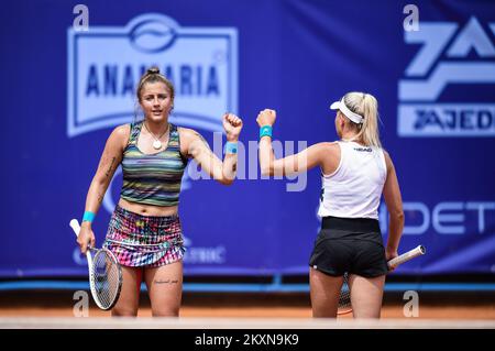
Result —
M 112 309 L 113 317 L 136 317 L 140 305 L 141 267 L 122 266 L 122 289 Z

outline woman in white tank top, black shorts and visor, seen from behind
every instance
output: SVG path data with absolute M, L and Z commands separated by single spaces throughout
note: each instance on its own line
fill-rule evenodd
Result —
M 272 149 L 275 111 L 260 112 L 260 164 L 265 175 L 321 168 L 321 230 L 309 260 L 314 317 L 337 316 L 348 273 L 354 317 L 380 318 L 387 261 L 397 256 L 404 227 L 399 185 L 392 158 L 381 146 L 376 99 L 349 92 L 331 109 L 338 110 L 336 129 L 341 140 L 282 160 Z M 391 215 L 386 246 L 378 224 L 382 194 Z

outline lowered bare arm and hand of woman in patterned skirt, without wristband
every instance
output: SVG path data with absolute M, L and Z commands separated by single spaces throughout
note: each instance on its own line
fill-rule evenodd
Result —
M 122 162 L 122 153 L 129 140 L 129 125 L 120 125 L 108 138 L 97 172 L 86 196 L 85 211 L 98 212 L 110 180 L 117 167 Z M 91 230 L 91 222 L 84 221 L 81 223 L 81 232 L 77 242 L 82 252 L 86 252 L 88 243 L 95 246 L 95 234 Z

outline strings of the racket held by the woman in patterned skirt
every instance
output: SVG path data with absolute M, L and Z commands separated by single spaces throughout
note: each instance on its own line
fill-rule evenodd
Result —
M 121 284 L 119 264 L 107 251 L 98 251 L 94 257 L 94 285 L 98 301 L 102 308 L 110 308 L 116 301 Z

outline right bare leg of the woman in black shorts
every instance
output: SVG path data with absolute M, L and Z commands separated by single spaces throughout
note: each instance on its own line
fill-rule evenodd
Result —
M 374 278 L 350 275 L 349 288 L 354 318 L 380 318 L 384 284 L 385 275 Z

